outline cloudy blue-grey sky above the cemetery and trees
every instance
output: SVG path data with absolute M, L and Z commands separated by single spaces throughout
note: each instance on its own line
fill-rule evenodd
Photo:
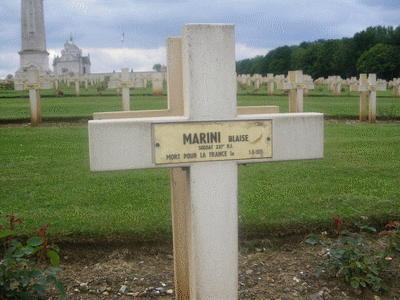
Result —
M 369 26 L 400 25 L 400 0 L 44 0 L 52 69 L 72 34 L 91 70 L 151 70 L 166 63 L 165 40 L 187 23 L 229 23 L 236 60 L 284 45 L 352 37 Z M 21 1 L 0 0 L 0 78 L 19 68 Z M 124 43 L 121 41 L 124 33 Z

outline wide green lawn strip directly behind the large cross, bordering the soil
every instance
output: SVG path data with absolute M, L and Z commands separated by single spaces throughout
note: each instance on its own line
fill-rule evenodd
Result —
M 0 128 L 0 224 L 23 234 L 170 239 L 168 169 L 92 173 L 85 127 Z M 322 160 L 239 166 L 242 235 L 296 233 L 400 218 L 400 126 L 325 124 Z

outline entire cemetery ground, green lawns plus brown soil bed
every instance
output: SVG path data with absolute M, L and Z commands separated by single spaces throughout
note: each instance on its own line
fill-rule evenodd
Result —
M 173 290 L 169 171 L 91 173 L 85 120 L 93 112 L 121 110 L 121 97 L 94 89 L 74 97 L 72 86 L 70 92 L 63 88 L 63 96 L 42 92 L 44 123 L 37 128 L 24 123 L 27 93 L 0 92 L 0 223 L 14 212 L 24 221 L 22 238 L 51 224 L 49 238 L 60 246 L 60 276 L 70 299 L 173 299 L 167 293 Z M 325 299 L 400 297 L 398 266 L 385 274 L 386 293 L 355 295 L 334 273 L 313 276 L 335 237 L 333 213 L 351 231 L 357 231 L 355 222 L 381 230 L 400 219 L 399 99 L 379 93 L 378 123 L 367 124 L 357 121 L 358 93 L 333 97 L 325 89 L 317 87 L 304 100 L 304 111 L 330 116 L 324 159 L 239 167 L 241 299 L 317 299 L 320 292 Z M 133 90 L 131 109 L 167 107 L 166 96 L 150 93 Z M 287 96 L 265 93 L 265 87 L 239 88 L 238 104 L 288 110 Z M 309 246 L 310 234 L 326 244 Z M 382 246 L 377 236 L 368 240 Z M 123 285 L 126 293 L 117 296 Z M 156 288 L 165 292 L 158 296 Z

